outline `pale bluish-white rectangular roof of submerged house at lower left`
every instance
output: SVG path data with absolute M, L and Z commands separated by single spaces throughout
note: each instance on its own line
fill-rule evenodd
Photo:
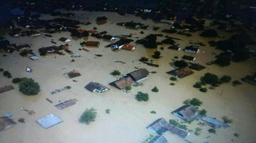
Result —
M 54 125 L 57 125 L 61 122 L 63 122 L 61 119 L 59 119 L 55 114 L 47 115 L 39 120 L 36 121 L 39 125 L 41 125 L 43 128 L 48 129 Z

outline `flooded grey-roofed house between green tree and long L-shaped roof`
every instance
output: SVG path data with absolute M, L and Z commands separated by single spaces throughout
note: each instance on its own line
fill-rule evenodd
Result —
M 185 121 L 194 121 L 200 116 L 200 111 L 193 105 L 184 105 L 172 113 Z

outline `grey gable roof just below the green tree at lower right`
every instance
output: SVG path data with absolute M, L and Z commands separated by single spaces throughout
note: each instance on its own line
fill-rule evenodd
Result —
M 193 105 L 184 105 L 174 110 L 172 113 L 179 113 L 183 117 L 185 117 L 187 120 L 190 120 L 196 115 L 198 115 L 199 110 Z

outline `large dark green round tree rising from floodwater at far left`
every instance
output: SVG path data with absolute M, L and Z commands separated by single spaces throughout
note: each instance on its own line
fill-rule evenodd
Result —
M 25 95 L 37 95 L 40 92 L 40 86 L 32 78 L 24 77 L 21 82 L 19 82 L 19 91 Z

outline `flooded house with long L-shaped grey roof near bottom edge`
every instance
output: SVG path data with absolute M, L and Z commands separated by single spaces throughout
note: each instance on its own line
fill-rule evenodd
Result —
M 151 130 L 159 135 L 164 134 L 165 132 L 173 133 L 183 139 L 186 139 L 187 136 L 190 134 L 188 131 L 185 131 L 181 128 L 175 127 L 170 125 L 167 121 L 163 118 L 160 118 L 153 122 L 151 125 L 147 126 L 148 130 Z

